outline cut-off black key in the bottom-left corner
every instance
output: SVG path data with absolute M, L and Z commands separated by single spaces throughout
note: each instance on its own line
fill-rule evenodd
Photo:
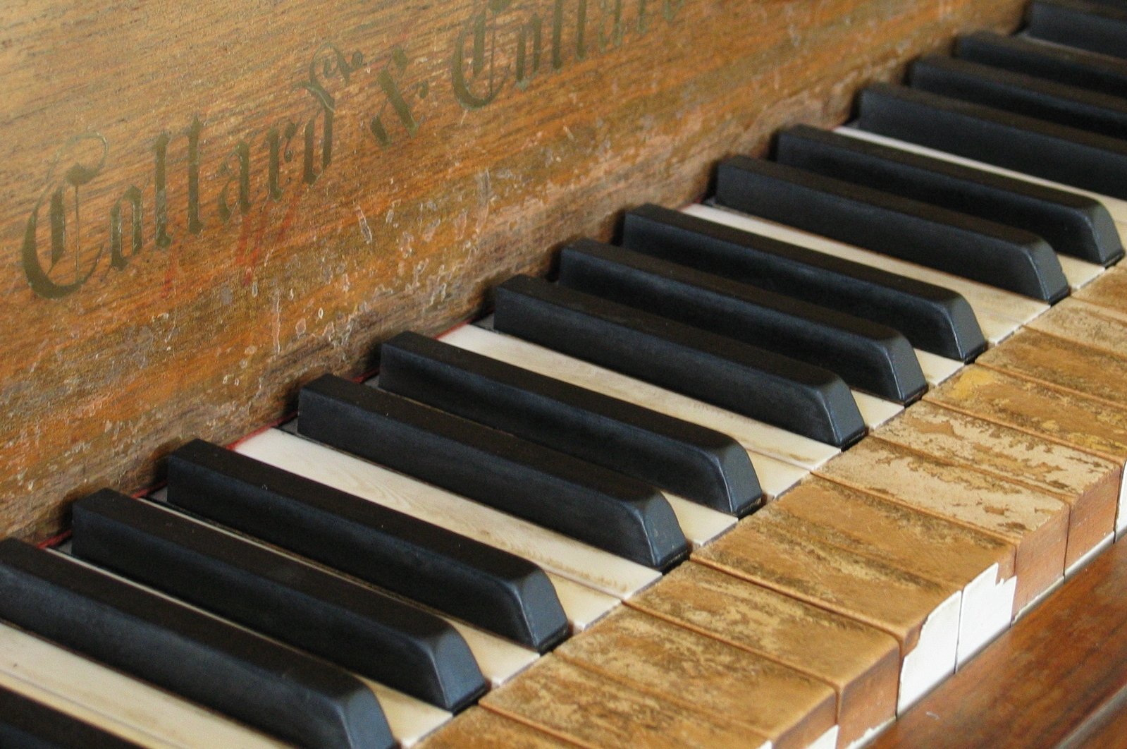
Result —
M 0 747 L 131 749 L 140 746 L 0 686 Z

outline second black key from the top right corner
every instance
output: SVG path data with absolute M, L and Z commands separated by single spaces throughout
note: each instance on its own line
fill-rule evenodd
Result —
M 1116 58 L 985 32 L 960 37 L 955 53 L 964 60 L 1127 97 L 1127 61 Z

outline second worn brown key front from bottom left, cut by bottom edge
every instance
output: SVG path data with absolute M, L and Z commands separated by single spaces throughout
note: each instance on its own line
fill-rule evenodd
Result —
M 481 705 L 585 747 L 764 746 L 746 725 L 717 724 L 708 715 L 665 702 L 650 693 L 545 655 Z

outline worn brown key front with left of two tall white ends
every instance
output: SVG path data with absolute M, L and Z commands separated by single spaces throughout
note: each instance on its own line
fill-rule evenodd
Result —
M 961 587 L 809 538 L 800 523 L 770 517 L 770 508 L 761 510 L 693 559 L 896 637 L 899 712 L 955 671 Z

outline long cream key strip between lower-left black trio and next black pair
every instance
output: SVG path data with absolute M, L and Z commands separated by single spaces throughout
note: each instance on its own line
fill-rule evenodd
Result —
M 277 429 L 251 437 L 236 450 L 516 554 L 619 599 L 629 598 L 660 578 L 654 570 L 562 534 Z M 568 620 L 575 624 L 570 615 Z

